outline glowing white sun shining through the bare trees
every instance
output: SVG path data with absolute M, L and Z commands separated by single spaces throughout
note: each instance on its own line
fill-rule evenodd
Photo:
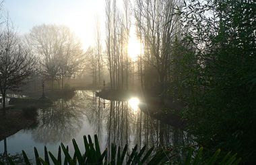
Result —
M 128 41 L 128 55 L 131 59 L 136 59 L 141 54 L 141 44 L 137 38 L 130 38 Z

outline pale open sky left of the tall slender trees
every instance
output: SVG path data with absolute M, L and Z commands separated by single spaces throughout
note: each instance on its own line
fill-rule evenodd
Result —
M 94 18 L 98 14 L 104 35 L 104 0 L 5 0 L 3 8 L 19 34 L 41 24 L 67 25 L 81 38 L 83 47 L 94 44 Z

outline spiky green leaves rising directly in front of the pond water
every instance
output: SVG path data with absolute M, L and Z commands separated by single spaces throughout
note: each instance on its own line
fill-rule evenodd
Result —
M 55 157 L 51 152 L 47 152 L 47 148 L 44 147 L 44 160 L 39 157 L 38 151 L 36 147 L 34 147 L 34 154 L 36 158 L 36 164 L 50 164 L 49 156 L 54 164 L 159 164 L 166 158 L 166 156 L 170 156 L 170 150 L 160 149 L 155 154 L 152 155 L 154 147 L 151 147 L 148 152 L 146 152 L 146 145 L 141 148 L 141 150 L 137 150 L 137 145 L 133 148 L 131 153 L 128 153 L 128 147 L 125 145 L 123 150 L 121 147 L 117 147 L 112 144 L 110 156 L 107 156 L 107 149 L 104 152 L 100 152 L 100 145 L 98 143 L 97 135 L 94 136 L 94 142 L 90 135 L 88 135 L 88 139 L 84 136 L 84 147 L 86 149 L 85 153 L 82 154 L 79 150 L 79 147 L 75 141 L 72 140 L 73 147 L 75 149 L 75 153 L 73 156 L 69 154 L 68 147 L 65 147 L 63 143 L 59 146 L 58 156 Z M 61 159 L 61 149 L 65 155 L 64 162 Z M 24 162 L 26 164 L 31 164 L 30 160 L 28 160 L 28 156 L 26 156 L 26 152 L 22 151 Z M 7 157 L 9 160 L 9 164 L 15 164 L 11 158 Z M 108 160 L 110 158 L 110 160 Z M 3 162 L 0 161 L 0 164 Z

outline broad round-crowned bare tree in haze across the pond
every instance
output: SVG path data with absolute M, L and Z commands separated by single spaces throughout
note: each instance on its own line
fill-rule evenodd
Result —
M 79 69 L 82 43 L 67 26 L 41 25 L 30 31 L 29 42 L 40 56 L 42 75 L 53 81 L 71 77 Z

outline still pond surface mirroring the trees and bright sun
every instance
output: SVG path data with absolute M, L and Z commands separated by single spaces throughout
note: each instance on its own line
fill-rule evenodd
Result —
M 22 153 L 34 159 L 34 147 L 44 157 L 44 145 L 57 156 L 61 142 L 69 145 L 73 153 L 71 139 L 75 139 L 84 152 L 83 136 L 98 135 L 100 147 L 110 148 L 111 143 L 121 145 L 127 143 L 130 149 L 138 144 L 161 147 L 161 144 L 174 147 L 189 143 L 189 135 L 185 131 L 174 129 L 156 119 L 151 119 L 137 107 L 138 100 L 130 101 L 103 100 L 90 90 L 75 91 L 69 100 L 59 99 L 53 106 L 38 110 L 38 122 L 32 127 L 23 129 L 0 141 L 0 154 L 5 147 L 7 154 L 14 156 Z

